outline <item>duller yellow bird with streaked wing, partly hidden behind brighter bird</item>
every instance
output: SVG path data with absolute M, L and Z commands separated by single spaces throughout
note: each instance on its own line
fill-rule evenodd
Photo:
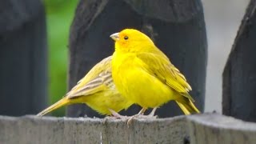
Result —
M 52 106 L 42 110 L 38 116 L 56 110 L 61 106 L 74 103 L 85 103 L 99 114 L 110 115 L 121 118 L 120 110 L 127 109 L 133 103 L 123 98 L 114 86 L 111 75 L 112 56 L 98 62 L 84 78 L 82 78 L 69 93 Z

